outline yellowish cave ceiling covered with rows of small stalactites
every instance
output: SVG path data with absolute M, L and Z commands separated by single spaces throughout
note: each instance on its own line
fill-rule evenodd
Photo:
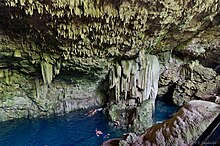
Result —
M 219 0 L 1 0 L 0 68 L 98 73 L 141 49 L 219 64 Z M 42 63 L 43 62 L 43 63 Z

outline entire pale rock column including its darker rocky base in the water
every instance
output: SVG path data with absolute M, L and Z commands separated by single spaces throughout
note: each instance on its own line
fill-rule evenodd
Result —
M 109 73 L 108 108 L 112 121 L 143 131 L 152 125 L 158 91 L 159 61 L 155 55 L 139 52 L 135 60 L 121 60 Z M 124 116 L 121 116 L 124 115 Z M 125 127 L 127 127 L 125 126 Z

